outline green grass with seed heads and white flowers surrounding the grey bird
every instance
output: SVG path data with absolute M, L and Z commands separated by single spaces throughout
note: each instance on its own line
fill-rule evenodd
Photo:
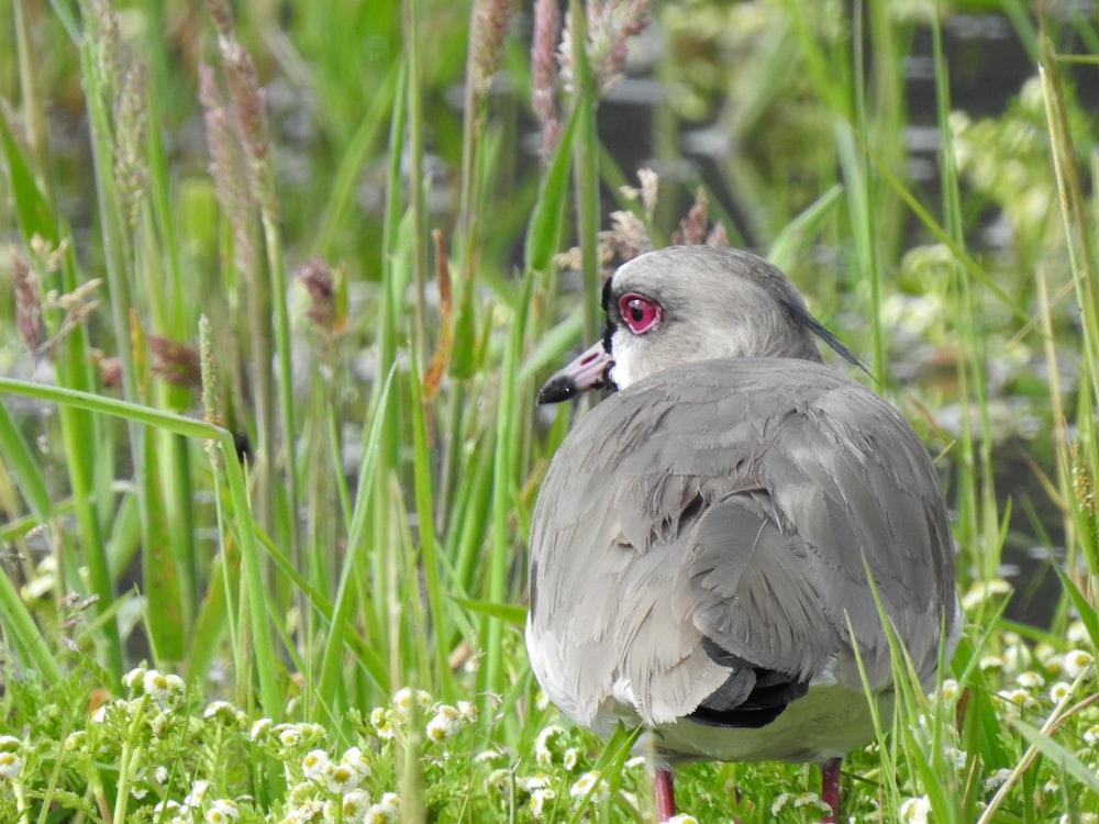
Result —
M 660 5 L 653 204 L 601 136 L 615 37 L 646 35 L 578 0 L 564 68 L 500 2 L 192 7 L 3 9 L 0 819 L 647 820 L 630 736 L 567 724 L 526 664 L 571 414 L 533 398 L 598 334 L 599 244 L 703 237 L 698 187 L 864 355 L 953 504 L 964 637 L 930 697 L 898 655 L 846 812 L 1096 820 L 1092 21 L 1006 2 L 1042 71 L 975 119 L 933 8 Z M 921 32 L 934 181 L 903 140 Z M 704 119 L 736 140 L 703 180 L 674 137 Z M 611 202 L 633 216 L 600 236 Z M 1000 575 L 1035 545 L 1057 594 L 1024 623 Z M 691 765 L 677 798 L 810 821 L 811 771 Z

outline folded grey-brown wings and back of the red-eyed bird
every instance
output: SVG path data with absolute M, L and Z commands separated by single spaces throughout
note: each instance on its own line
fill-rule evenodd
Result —
M 953 598 L 937 488 L 908 424 L 824 367 L 654 376 L 581 420 L 547 471 L 532 525 L 535 672 L 582 723 L 628 684 L 657 724 L 735 705 L 752 689 L 737 671 L 811 679 L 850 646 L 850 621 L 887 673 L 867 569 L 923 661 Z

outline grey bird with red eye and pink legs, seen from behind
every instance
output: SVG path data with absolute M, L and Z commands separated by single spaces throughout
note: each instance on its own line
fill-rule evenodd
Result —
M 578 724 L 641 728 L 657 821 L 675 815 L 675 765 L 720 760 L 820 765 L 834 822 L 870 700 L 882 717 L 893 703 L 882 615 L 925 689 L 959 634 L 930 453 L 824 364 L 818 342 L 861 361 L 752 253 L 647 252 L 602 308 L 602 339 L 537 396 L 614 390 L 537 494 L 531 669 Z

